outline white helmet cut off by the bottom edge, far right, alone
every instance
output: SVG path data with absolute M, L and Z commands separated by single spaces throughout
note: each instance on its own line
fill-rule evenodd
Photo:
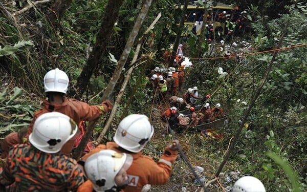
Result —
M 266 188 L 259 179 L 245 176 L 234 183 L 232 192 L 266 192 Z

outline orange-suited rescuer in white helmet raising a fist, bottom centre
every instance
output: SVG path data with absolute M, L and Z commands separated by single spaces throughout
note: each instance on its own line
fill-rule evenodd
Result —
M 156 163 L 149 156 L 142 155 L 143 148 L 151 139 L 153 132 L 147 116 L 131 114 L 119 123 L 113 137 L 115 142 L 98 145 L 81 160 L 86 162 L 86 159 L 92 154 L 105 149 L 125 152 L 133 156 L 133 163 L 127 170 L 129 181 L 125 192 L 140 192 L 145 184 L 165 184 L 170 177 L 172 164 L 177 158 L 179 141 L 172 141 Z

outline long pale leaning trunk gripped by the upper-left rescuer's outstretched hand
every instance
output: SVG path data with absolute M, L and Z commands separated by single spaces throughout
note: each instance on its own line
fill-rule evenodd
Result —
M 112 92 L 113 92 L 113 90 L 115 88 L 115 85 L 116 85 L 116 83 L 117 83 L 117 81 L 118 81 L 118 79 L 119 79 L 119 77 L 120 77 L 120 75 L 122 73 L 122 70 L 123 70 L 123 68 L 125 66 L 127 58 L 128 58 L 128 56 L 130 54 L 131 48 L 134 45 L 135 39 L 136 39 L 136 37 L 137 37 L 137 35 L 139 33 L 141 25 L 144 22 L 145 16 L 147 15 L 147 12 L 148 12 L 148 9 L 149 9 L 149 7 L 151 5 L 151 2 L 152 2 L 152 0 L 144 1 L 144 4 L 143 4 L 142 9 L 140 11 L 140 14 L 139 14 L 139 16 L 138 16 L 138 18 L 136 20 L 136 23 L 135 23 L 135 25 L 134 25 L 134 27 L 133 27 L 130 35 L 129 35 L 127 43 L 125 45 L 124 51 L 121 54 L 121 57 L 120 57 L 120 59 L 118 61 L 118 64 L 117 64 L 117 67 L 116 67 L 116 69 L 115 69 L 115 71 L 114 71 L 110 81 L 108 82 L 108 85 L 107 85 L 107 87 L 106 87 L 106 89 L 104 91 L 103 96 L 100 98 L 100 102 L 102 102 L 102 101 L 104 101 L 106 99 L 109 99 L 109 97 L 111 96 L 111 94 L 112 94 Z M 113 106 L 113 108 L 115 108 L 115 107 Z M 98 121 L 98 118 L 96 120 L 91 121 L 89 123 L 89 126 L 87 127 L 87 130 L 86 130 L 85 134 L 83 135 L 79 146 L 76 148 L 76 151 L 73 154 L 73 158 L 74 159 L 79 159 L 80 158 L 80 156 L 82 154 L 82 151 L 84 150 L 87 141 L 89 141 L 89 139 L 90 139 L 90 137 L 91 137 L 91 135 L 93 133 L 93 130 L 94 130 L 95 125 L 97 124 L 97 121 Z

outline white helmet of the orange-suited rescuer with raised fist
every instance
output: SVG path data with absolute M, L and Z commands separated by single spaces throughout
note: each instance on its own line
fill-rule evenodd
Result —
M 131 114 L 125 117 L 118 125 L 114 141 L 129 152 L 138 153 L 143 150 L 153 135 L 146 115 Z

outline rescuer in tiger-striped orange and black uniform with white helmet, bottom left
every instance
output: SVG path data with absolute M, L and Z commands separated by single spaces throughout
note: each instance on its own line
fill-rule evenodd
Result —
M 82 170 L 76 160 L 59 152 L 77 130 L 74 120 L 62 113 L 39 116 L 29 142 L 9 152 L 0 185 L 7 191 L 76 191 L 84 182 Z

